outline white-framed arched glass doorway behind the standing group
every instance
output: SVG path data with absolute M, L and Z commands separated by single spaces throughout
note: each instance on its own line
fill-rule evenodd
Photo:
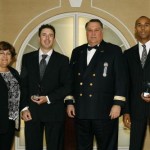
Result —
M 119 45 L 122 50 L 129 48 L 129 43 L 125 39 L 125 37 L 122 35 L 122 33 L 111 23 L 108 21 L 91 14 L 87 13 L 64 13 L 61 15 L 54 16 L 52 18 L 49 18 L 42 22 L 41 24 L 52 24 L 56 29 L 56 43 L 54 46 L 54 49 L 64 55 L 67 55 L 70 57 L 72 49 L 76 46 L 79 46 L 83 43 L 86 43 L 86 36 L 85 36 L 85 23 L 91 19 L 91 18 L 98 18 L 100 19 L 104 24 L 104 40 L 107 42 L 114 43 L 116 45 Z M 38 28 L 41 26 L 39 24 L 37 27 L 35 27 L 32 32 L 27 36 L 27 38 L 24 40 L 21 49 L 18 54 L 18 59 L 16 63 L 16 68 L 20 70 L 21 65 L 21 59 L 23 54 L 35 51 L 38 49 Z M 73 120 L 68 119 L 67 120 L 67 127 L 69 127 L 69 131 L 66 130 L 68 133 L 67 137 L 74 134 L 73 129 Z M 20 138 L 16 139 L 16 145 L 17 150 L 24 148 L 24 126 L 21 127 L 21 134 Z M 119 136 L 119 147 L 120 149 L 125 148 L 128 146 L 128 139 L 129 134 L 127 133 L 127 130 L 124 130 L 123 125 L 120 123 L 119 133 L 121 133 Z M 123 139 L 122 139 L 123 137 Z M 71 138 L 68 138 L 71 139 Z M 74 140 L 74 138 L 72 138 Z M 72 145 L 74 146 L 74 142 L 72 141 Z M 70 147 L 67 147 L 66 150 L 74 150 L 70 149 Z M 94 149 L 96 149 L 96 146 L 94 145 Z

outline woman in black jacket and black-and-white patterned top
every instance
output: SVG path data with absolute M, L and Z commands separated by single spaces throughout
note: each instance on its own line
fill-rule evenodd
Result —
M 19 74 L 10 67 L 16 55 L 8 42 L 0 42 L 0 150 L 11 150 L 19 129 Z

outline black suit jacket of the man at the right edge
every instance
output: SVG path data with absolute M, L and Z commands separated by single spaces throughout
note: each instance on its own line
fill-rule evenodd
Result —
M 127 61 L 129 78 L 125 113 L 129 113 L 131 119 L 147 119 L 147 117 L 150 117 L 150 103 L 141 99 L 141 93 L 145 90 L 143 83 L 150 82 L 150 53 L 144 68 L 141 66 L 138 45 L 126 50 L 124 55 Z

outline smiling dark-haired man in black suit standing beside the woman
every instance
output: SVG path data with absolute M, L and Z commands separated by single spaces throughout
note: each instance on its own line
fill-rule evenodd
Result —
M 62 150 L 64 97 L 70 93 L 71 82 L 69 59 L 53 49 L 53 26 L 39 28 L 39 41 L 39 50 L 25 54 L 22 60 L 21 108 L 26 150 L 43 149 L 44 129 L 47 150 Z

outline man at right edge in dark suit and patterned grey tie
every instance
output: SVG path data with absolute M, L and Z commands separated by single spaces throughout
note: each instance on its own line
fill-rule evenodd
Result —
M 142 94 L 150 92 L 146 91 L 150 83 L 150 18 L 141 16 L 136 20 L 135 37 L 138 44 L 124 54 L 128 65 L 129 92 L 123 121 L 131 129 L 129 149 L 142 150 L 150 121 L 150 95 Z

